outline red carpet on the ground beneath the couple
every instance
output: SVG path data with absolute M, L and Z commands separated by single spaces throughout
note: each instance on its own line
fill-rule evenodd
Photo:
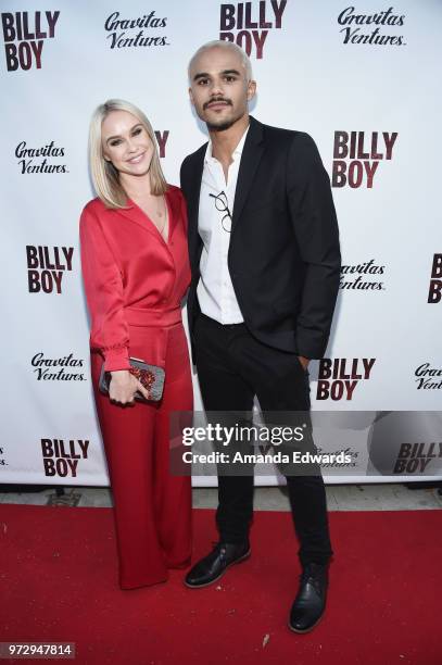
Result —
M 286 627 L 299 575 L 288 513 L 256 513 L 251 560 L 213 587 L 188 590 L 174 570 L 119 591 L 111 510 L 0 504 L 0 641 L 76 642 L 81 665 L 441 665 L 442 511 L 330 524 L 327 614 L 298 636 Z M 198 557 L 213 511 L 195 511 L 194 531 Z

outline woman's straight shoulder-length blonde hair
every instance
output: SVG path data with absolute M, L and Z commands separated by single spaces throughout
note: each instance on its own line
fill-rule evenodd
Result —
M 127 111 L 127 113 L 135 115 L 143 125 L 153 143 L 153 155 L 149 170 L 151 193 L 154 196 L 164 195 L 167 189 L 167 183 L 161 168 L 156 138 L 152 125 L 144 113 L 130 102 L 123 99 L 109 99 L 103 104 L 97 106 L 89 126 L 89 166 L 98 197 L 106 208 L 126 208 L 127 205 L 127 195 L 119 184 L 118 172 L 112 162 L 104 159 L 101 141 L 102 123 L 112 111 Z

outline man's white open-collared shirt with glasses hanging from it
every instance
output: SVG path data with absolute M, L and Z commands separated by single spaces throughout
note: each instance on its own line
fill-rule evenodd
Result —
M 212 142 L 209 141 L 201 180 L 198 230 L 203 241 L 203 250 L 197 294 L 201 312 L 220 324 L 238 324 L 244 321 L 231 284 L 227 254 L 239 165 L 248 131 L 249 127 L 233 150 L 227 183 L 223 165 L 212 155 Z

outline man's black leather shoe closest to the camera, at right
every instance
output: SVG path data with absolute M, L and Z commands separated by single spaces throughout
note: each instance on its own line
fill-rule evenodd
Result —
M 311 563 L 300 577 L 300 588 L 289 618 L 294 632 L 308 632 L 319 623 L 326 608 L 328 566 Z

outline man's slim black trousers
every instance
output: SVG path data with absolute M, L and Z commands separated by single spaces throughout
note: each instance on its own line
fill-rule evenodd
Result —
M 295 354 L 260 342 L 244 324 L 222 325 L 204 314 L 195 322 L 193 339 L 206 411 L 250 412 L 254 396 L 263 412 L 310 410 L 308 375 Z M 320 470 L 286 477 L 301 564 L 325 564 L 332 550 Z M 253 475 L 218 476 L 216 522 L 223 542 L 248 539 L 253 486 Z

